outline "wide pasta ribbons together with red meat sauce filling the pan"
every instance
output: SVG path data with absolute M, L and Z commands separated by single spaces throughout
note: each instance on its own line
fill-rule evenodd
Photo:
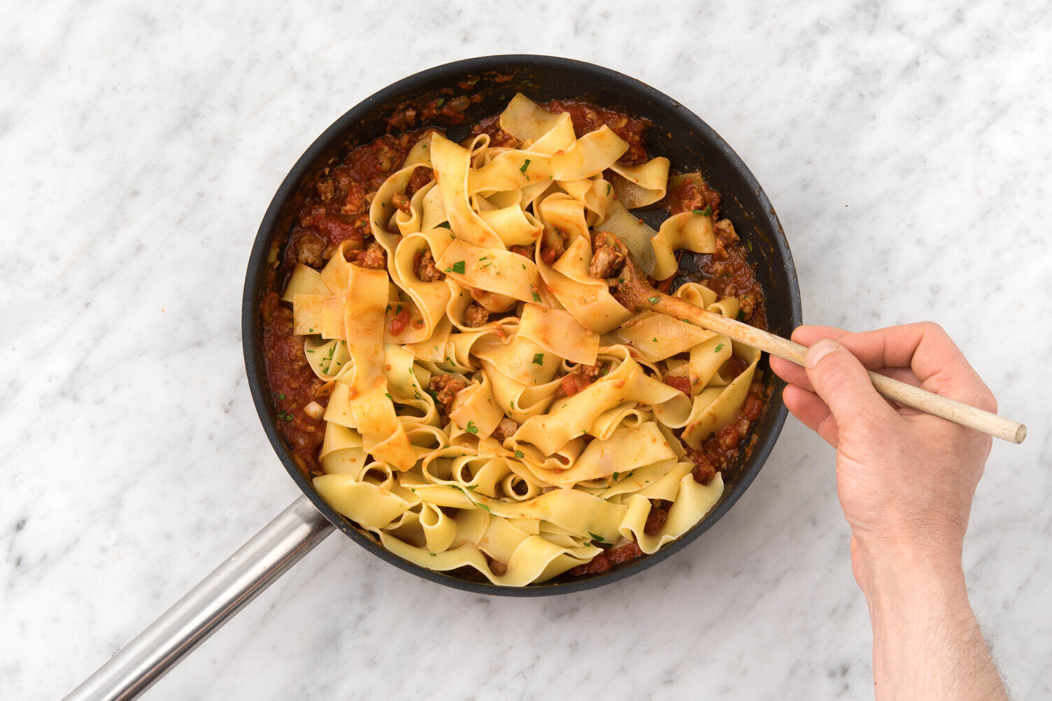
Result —
M 644 129 L 518 95 L 461 143 L 381 137 L 319 173 L 261 309 L 267 374 L 316 489 L 390 552 L 526 585 L 654 553 L 720 499 L 760 352 L 622 307 L 599 240 L 664 289 L 682 259 L 672 293 L 710 311 L 763 327 L 764 300 L 719 193 Z

